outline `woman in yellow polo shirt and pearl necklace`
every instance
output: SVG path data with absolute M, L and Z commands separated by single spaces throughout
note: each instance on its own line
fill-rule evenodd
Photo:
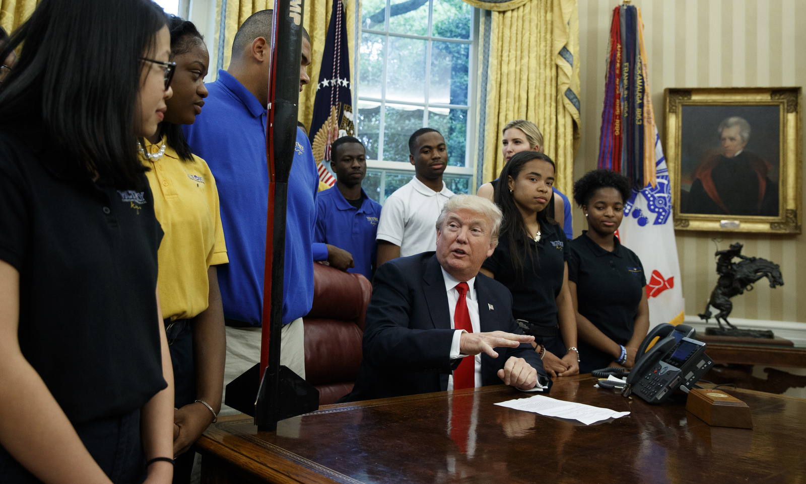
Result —
M 193 23 L 171 16 L 168 27 L 173 96 L 160 128 L 140 146 L 165 232 L 158 279 L 177 407 L 173 482 L 190 482 L 194 453 L 187 450 L 221 409 L 226 332 L 216 266 L 227 258 L 215 180 L 207 163 L 190 152 L 180 127 L 202 112 L 210 56 Z

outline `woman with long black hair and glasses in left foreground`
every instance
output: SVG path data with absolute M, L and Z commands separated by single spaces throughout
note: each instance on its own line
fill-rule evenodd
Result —
M 166 21 L 149 0 L 43 0 L 11 35 L 0 482 L 171 481 L 162 230 L 137 154 L 172 94 Z

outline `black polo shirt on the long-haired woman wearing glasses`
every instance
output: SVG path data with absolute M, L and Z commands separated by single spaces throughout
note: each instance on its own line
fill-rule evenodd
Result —
M 93 183 L 0 130 L 0 259 L 19 271 L 19 345 L 73 424 L 166 387 L 156 308 L 162 230 L 141 188 Z

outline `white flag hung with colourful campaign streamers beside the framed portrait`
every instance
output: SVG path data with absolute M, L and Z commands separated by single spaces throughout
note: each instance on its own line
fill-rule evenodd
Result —
M 610 29 L 598 164 L 633 182 L 617 235 L 641 259 L 650 326 L 655 326 L 682 323 L 684 308 L 669 172 L 646 73 L 641 12 L 632 5 L 617 6 Z

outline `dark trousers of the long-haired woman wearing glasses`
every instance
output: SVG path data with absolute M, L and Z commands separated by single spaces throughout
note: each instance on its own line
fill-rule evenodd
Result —
M 140 484 L 146 478 L 145 456 L 140 440 L 140 410 L 88 424 L 76 425 L 76 432 L 89 454 L 116 484 Z M 48 458 L 43 456 L 43 458 Z M 41 484 L 0 447 L 0 482 Z

